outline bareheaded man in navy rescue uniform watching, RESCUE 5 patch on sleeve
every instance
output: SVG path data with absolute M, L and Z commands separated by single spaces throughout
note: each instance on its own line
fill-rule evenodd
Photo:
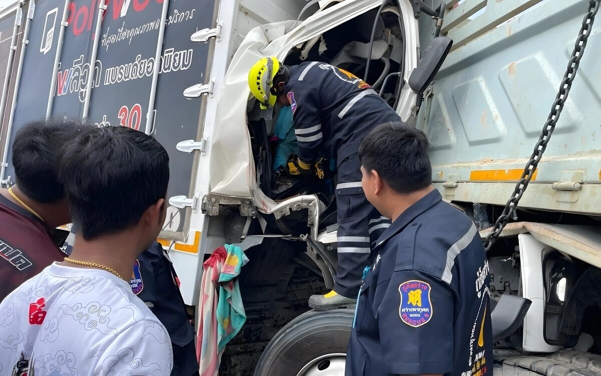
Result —
M 432 186 L 424 132 L 378 126 L 359 147 L 367 199 L 391 218 L 364 270 L 347 376 L 491 376 L 486 252 Z

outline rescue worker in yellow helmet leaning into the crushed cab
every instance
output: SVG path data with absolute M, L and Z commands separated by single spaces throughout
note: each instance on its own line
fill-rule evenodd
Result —
M 310 175 L 320 153 L 337 161 L 338 273 L 333 291 L 313 295 L 309 306 L 352 306 L 372 242 L 390 224 L 365 199 L 357 150 L 371 129 L 401 119 L 361 78 L 326 63 L 288 67 L 275 57 L 262 58 L 248 82 L 261 108 L 276 101 L 291 106 L 298 153 L 288 159 L 289 174 Z

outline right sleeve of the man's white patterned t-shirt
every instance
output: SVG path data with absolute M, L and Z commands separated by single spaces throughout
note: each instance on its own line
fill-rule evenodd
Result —
M 173 351 L 169 334 L 156 321 L 140 321 L 115 337 L 99 359 L 94 375 L 169 376 Z

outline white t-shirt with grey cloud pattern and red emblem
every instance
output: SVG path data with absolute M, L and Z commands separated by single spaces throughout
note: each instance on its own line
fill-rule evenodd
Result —
M 165 327 L 108 271 L 54 263 L 0 303 L 0 375 L 169 375 Z

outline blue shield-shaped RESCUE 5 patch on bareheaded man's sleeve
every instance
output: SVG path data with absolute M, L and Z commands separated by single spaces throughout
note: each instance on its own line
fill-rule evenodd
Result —
M 398 315 L 410 327 L 421 327 L 432 318 L 432 288 L 424 281 L 410 280 L 398 286 L 401 294 L 401 304 Z

